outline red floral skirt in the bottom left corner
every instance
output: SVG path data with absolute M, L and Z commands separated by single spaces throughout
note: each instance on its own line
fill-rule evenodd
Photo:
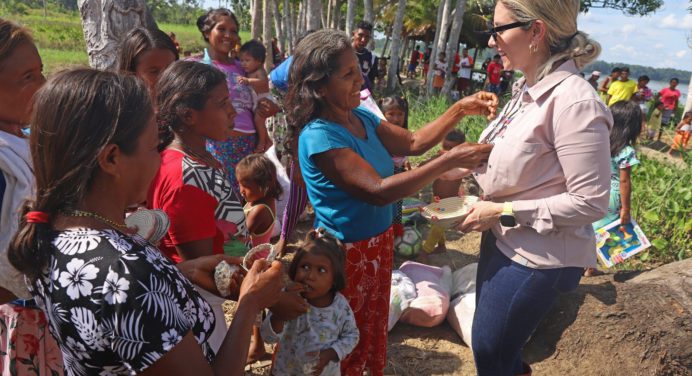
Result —
M 0 305 L 0 374 L 62 376 L 62 353 L 38 308 Z

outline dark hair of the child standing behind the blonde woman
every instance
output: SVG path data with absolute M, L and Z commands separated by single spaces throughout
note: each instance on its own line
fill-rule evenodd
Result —
M 610 156 L 615 157 L 627 145 L 634 145 L 642 131 L 642 110 L 632 101 L 620 101 L 610 107 L 613 129 L 610 131 Z

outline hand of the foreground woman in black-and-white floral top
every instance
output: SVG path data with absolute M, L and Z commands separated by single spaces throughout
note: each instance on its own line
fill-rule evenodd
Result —
M 240 301 L 254 304 L 257 311 L 271 307 L 279 300 L 284 287 L 281 262 L 274 261 L 271 266 L 266 260 L 256 260 L 240 285 Z

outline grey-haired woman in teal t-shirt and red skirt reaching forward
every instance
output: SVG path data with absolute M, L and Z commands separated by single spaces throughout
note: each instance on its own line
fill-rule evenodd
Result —
M 393 175 L 391 156 L 420 155 L 439 143 L 465 115 L 494 116 L 497 97 L 478 93 L 452 105 L 415 133 L 380 120 L 360 104 L 358 59 L 346 34 L 320 30 L 298 46 L 286 97 L 289 126 L 299 136 L 298 159 L 315 226 L 346 243 L 347 287 L 360 341 L 341 361 L 345 374 L 382 375 L 393 254 L 391 204 L 443 172 L 472 169 L 491 145 L 465 144 L 425 166 Z

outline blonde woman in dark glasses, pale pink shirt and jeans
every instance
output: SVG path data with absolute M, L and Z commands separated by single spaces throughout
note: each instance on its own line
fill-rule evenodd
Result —
M 579 76 L 600 46 L 578 0 L 499 0 L 489 46 L 524 78 L 481 134 L 486 194 L 460 226 L 483 231 L 473 352 L 478 375 L 530 374 L 521 350 L 560 292 L 596 265 L 591 223 L 608 208 L 613 119 Z

